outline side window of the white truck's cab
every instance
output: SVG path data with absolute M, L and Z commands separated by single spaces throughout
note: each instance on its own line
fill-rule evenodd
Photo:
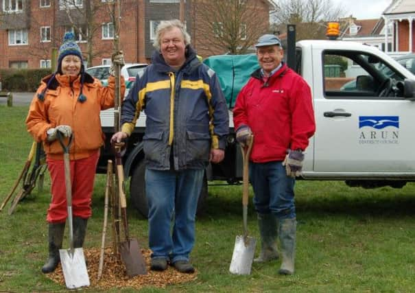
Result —
M 327 98 L 398 97 L 403 76 L 374 55 L 356 51 L 324 51 L 324 96 Z

